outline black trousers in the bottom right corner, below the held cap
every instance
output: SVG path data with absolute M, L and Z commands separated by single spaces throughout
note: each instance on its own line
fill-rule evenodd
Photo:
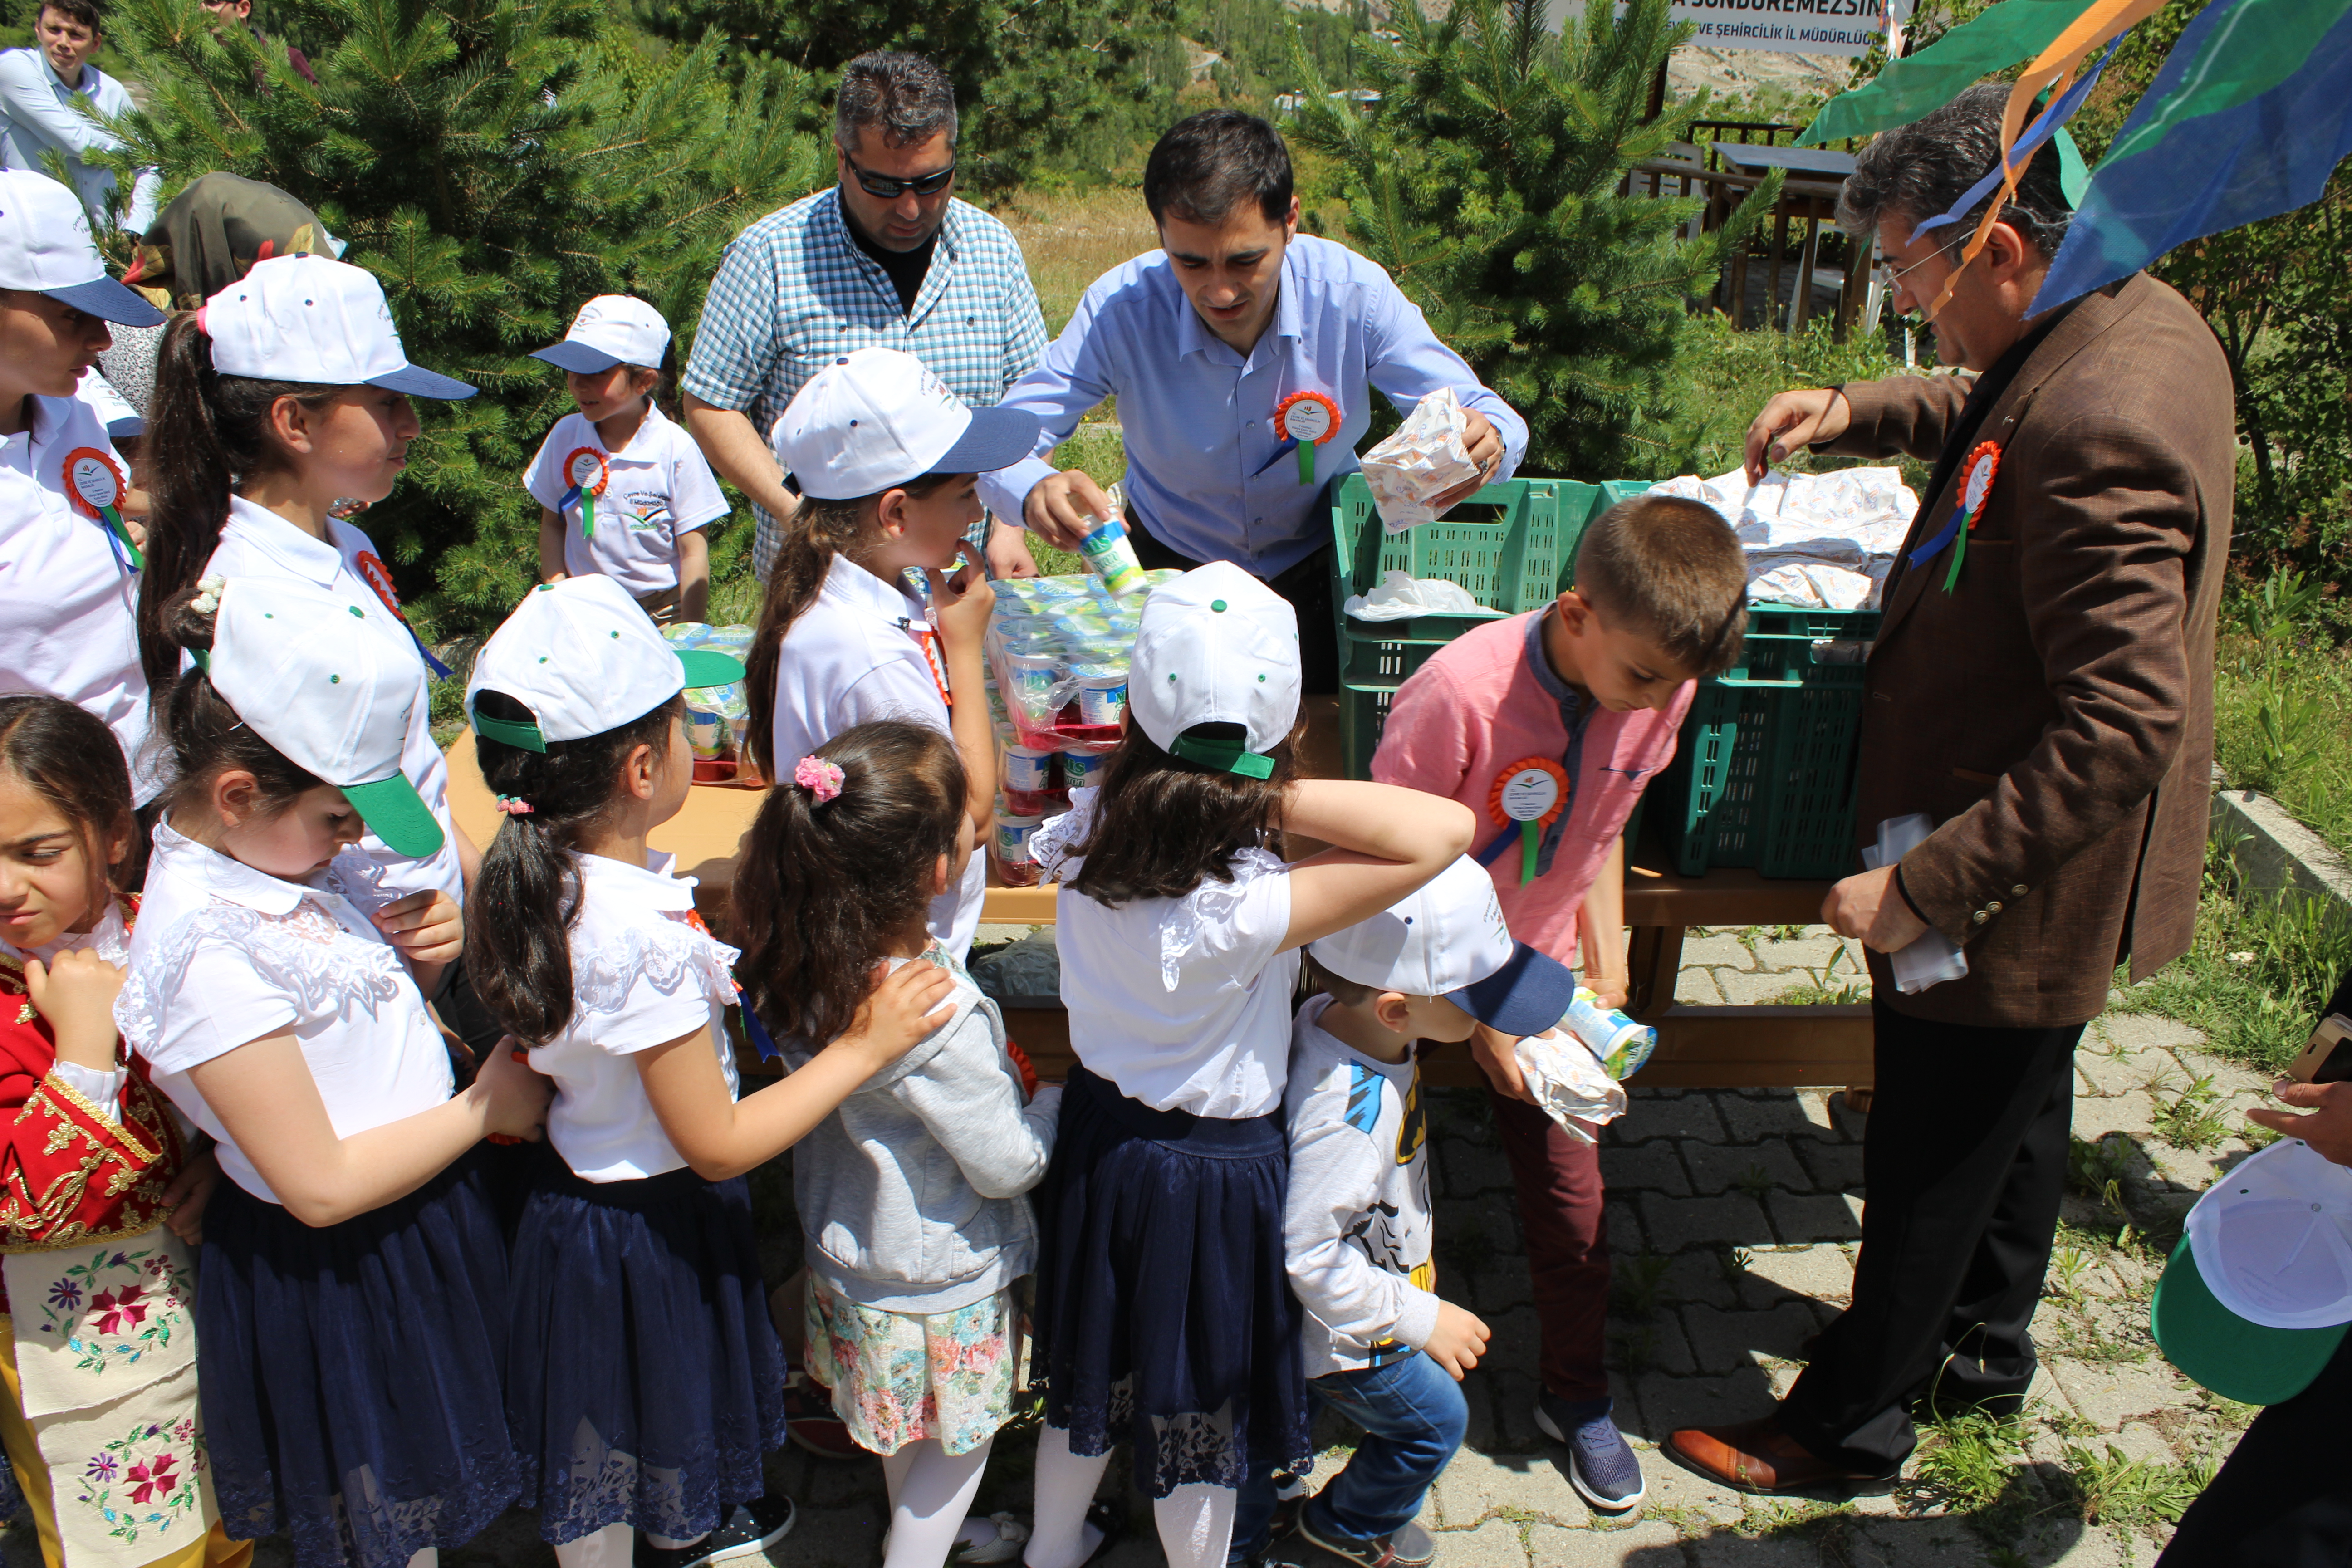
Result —
M 2190 1505 L 2157 1568 L 2345 1568 L 2352 1563 L 2352 1338 L 2286 1403 L 2253 1418 Z

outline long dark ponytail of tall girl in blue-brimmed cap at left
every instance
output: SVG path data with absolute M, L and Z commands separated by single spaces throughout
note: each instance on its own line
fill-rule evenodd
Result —
M 181 315 L 165 329 L 139 463 L 151 503 L 146 569 L 139 574 L 139 668 L 151 691 L 162 691 L 179 672 L 181 644 L 172 642 L 165 607 L 205 576 L 205 562 L 228 524 L 228 491 L 282 461 L 270 440 L 270 404 L 294 397 L 318 411 L 346 390 L 223 376 L 212 369 L 212 339 L 195 315 Z

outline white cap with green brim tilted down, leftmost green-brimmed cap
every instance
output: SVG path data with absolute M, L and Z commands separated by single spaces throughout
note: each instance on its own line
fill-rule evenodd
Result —
M 442 846 L 440 823 L 400 771 L 426 701 L 416 646 L 358 599 L 289 578 L 228 578 L 202 665 L 247 729 L 341 790 L 393 851 L 421 858 Z

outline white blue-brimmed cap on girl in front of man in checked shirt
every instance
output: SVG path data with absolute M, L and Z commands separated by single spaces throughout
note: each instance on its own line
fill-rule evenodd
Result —
M 863 501 L 927 473 L 995 473 L 1037 447 L 1028 409 L 974 409 L 922 360 L 861 348 L 809 376 L 776 418 L 776 463 L 802 496 Z

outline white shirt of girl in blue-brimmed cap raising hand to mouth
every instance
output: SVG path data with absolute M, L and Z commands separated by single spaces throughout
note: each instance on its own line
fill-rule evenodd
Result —
M 917 637 L 931 625 L 922 604 L 884 583 L 847 555 L 833 557 L 826 585 L 783 635 L 783 658 L 776 663 L 776 771 L 790 776 L 793 764 L 833 736 L 875 719 L 906 719 L 948 729 L 948 698 L 941 677 Z M 988 701 L 983 691 L 974 703 Z M 971 856 L 964 879 L 931 900 L 931 936 L 962 964 L 971 933 L 981 929 L 981 898 L 988 896 L 988 856 Z

